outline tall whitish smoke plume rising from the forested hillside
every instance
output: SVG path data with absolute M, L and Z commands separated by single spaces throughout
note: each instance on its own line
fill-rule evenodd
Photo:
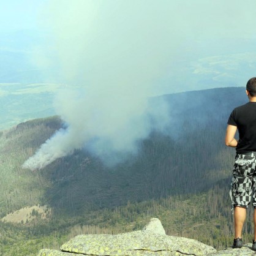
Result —
M 44 51 L 45 56 L 56 56 L 52 67 L 58 66 L 58 75 L 74 85 L 55 100 L 56 113 L 67 129 L 58 130 L 24 162 L 23 167 L 31 170 L 83 147 L 115 162 L 119 152 L 136 152 L 138 140 L 168 122 L 165 102 L 149 104 L 167 55 L 168 42 L 155 42 L 162 21 L 143 21 L 150 24 L 141 30 L 131 16 L 134 9 L 126 15 L 120 12 L 124 2 L 105 6 L 102 1 L 105 8 L 97 1 L 62 3 L 58 15 L 53 15 L 56 3 L 50 6 L 55 42 L 44 45 Z

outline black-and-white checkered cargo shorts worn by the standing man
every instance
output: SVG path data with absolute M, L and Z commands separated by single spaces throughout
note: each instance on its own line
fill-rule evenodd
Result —
M 252 200 L 256 208 L 256 154 L 236 154 L 230 198 L 232 205 L 247 208 Z

